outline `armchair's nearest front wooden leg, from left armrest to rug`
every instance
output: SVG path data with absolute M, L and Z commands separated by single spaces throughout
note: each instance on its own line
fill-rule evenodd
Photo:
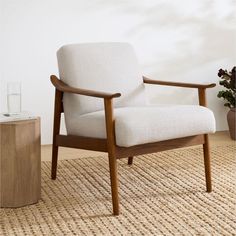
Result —
M 104 107 L 106 117 L 107 149 L 109 157 L 113 214 L 119 215 L 118 171 L 115 153 L 115 120 L 113 116 L 112 99 L 104 99 Z

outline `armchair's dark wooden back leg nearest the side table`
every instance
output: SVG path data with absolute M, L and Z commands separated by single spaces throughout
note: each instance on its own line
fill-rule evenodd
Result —
M 52 168 L 51 168 L 52 179 L 56 179 L 57 176 L 58 146 L 56 144 L 56 136 L 60 133 L 61 113 L 63 112 L 62 97 L 63 93 L 56 89 L 55 104 L 54 104 L 53 143 L 52 143 Z

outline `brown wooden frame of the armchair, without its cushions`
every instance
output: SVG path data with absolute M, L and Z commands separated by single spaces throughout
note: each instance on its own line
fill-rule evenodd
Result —
M 112 102 L 114 98 L 121 96 L 120 93 L 110 94 L 110 93 L 103 93 L 98 91 L 70 87 L 67 84 L 63 83 L 61 80 L 59 80 L 55 75 L 52 75 L 50 79 L 52 84 L 56 88 L 55 107 L 54 107 L 54 126 L 53 126 L 52 169 L 51 169 L 52 179 L 54 180 L 56 179 L 59 146 L 108 152 L 113 214 L 119 215 L 117 159 L 126 157 L 128 158 L 128 164 L 131 165 L 133 162 L 133 156 L 135 155 L 160 152 L 169 149 L 203 144 L 206 189 L 207 192 L 212 191 L 208 134 L 136 145 L 132 147 L 119 147 L 116 145 L 116 140 L 115 140 L 115 128 L 114 128 L 115 118 L 113 114 Z M 215 87 L 215 84 L 204 85 L 204 84 L 158 81 L 158 80 L 151 80 L 146 77 L 143 77 L 143 82 L 146 84 L 196 88 L 198 89 L 199 105 L 201 106 L 206 106 L 206 89 Z M 106 133 L 107 133 L 106 139 L 60 134 L 61 113 L 64 112 L 62 103 L 63 93 L 80 94 L 104 99 Z

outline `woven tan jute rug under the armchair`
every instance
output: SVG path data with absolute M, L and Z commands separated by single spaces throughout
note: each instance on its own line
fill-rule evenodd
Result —
M 42 200 L 0 210 L 1 235 L 236 235 L 236 147 L 212 148 L 205 192 L 202 148 L 119 161 L 121 214 L 112 216 L 106 156 L 42 164 Z

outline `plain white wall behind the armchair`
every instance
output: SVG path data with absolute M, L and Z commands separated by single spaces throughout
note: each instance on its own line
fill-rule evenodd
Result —
M 219 68 L 236 63 L 235 0 L 0 0 L 0 112 L 6 84 L 22 82 L 23 109 L 42 118 L 42 142 L 52 137 L 56 50 L 63 44 L 128 41 L 143 73 L 154 79 L 218 82 Z M 234 50 L 234 51 L 233 51 Z M 209 90 L 217 130 L 227 109 Z M 197 103 L 196 92 L 148 88 L 152 102 Z

